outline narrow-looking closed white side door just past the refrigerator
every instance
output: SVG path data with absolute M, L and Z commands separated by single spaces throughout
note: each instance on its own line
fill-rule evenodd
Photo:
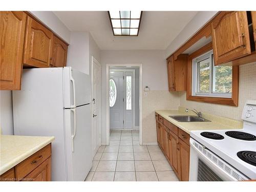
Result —
M 99 63 L 92 64 L 92 148 L 95 155 L 100 146 L 100 75 Z

